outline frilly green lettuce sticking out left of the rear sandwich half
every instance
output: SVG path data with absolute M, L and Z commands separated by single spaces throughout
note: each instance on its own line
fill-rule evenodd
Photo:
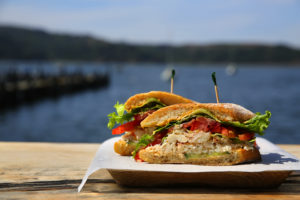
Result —
M 125 121 L 130 121 L 133 117 L 132 113 L 125 113 L 125 107 L 124 104 L 119 104 L 119 102 L 114 105 L 114 108 L 116 109 L 116 112 L 108 114 L 108 124 L 107 127 L 109 129 L 112 129 L 115 124 L 122 124 Z

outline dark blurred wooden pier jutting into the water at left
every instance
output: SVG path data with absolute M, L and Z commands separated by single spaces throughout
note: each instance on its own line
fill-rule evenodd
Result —
M 0 109 L 42 98 L 58 97 L 109 84 L 107 73 L 29 74 L 11 71 L 0 77 Z

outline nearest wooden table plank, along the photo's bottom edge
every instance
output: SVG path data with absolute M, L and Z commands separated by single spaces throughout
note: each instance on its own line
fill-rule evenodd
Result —
M 4 192 L 5 199 L 299 199 L 298 190 L 237 190 L 207 188 L 122 188 L 116 184 L 88 184 L 88 191 L 74 189 Z M 290 188 L 291 186 L 287 186 Z

